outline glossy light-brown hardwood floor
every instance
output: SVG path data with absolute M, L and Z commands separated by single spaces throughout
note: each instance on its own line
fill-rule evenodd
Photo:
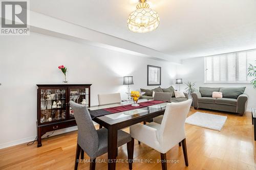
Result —
M 210 110 L 190 109 L 189 115 L 199 112 L 226 115 L 227 121 L 221 132 L 185 125 L 189 166 L 185 166 L 182 147 L 177 146 L 166 153 L 168 169 L 253 169 L 255 170 L 256 149 L 251 125 L 251 113 L 243 117 Z M 97 127 L 98 128 L 98 127 Z M 129 131 L 129 129 L 125 129 Z M 77 131 L 56 135 L 27 147 L 26 143 L 0 150 L 0 169 L 74 169 Z M 98 157 L 99 161 L 107 154 Z M 84 159 L 89 157 L 84 154 Z M 102 159 L 102 160 L 101 160 Z M 126 145 L 118 149 L 117 159 L 127 159 Z M 133 169 L 161 169 L 160 153 L 145 144 L 134 142 Z M 152 162 L 140 163 L 144 159 Z M 79 163 L 78 169 L 89 169 L 90 163 Z M 105 162 L 96 163 L 96 169 L 107 169 Z M 128 163 L 117 163 L 116 169 L 129 169 Z

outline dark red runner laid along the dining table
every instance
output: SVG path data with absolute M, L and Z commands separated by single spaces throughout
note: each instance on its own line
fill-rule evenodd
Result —
M 143 108 L 143 107 L 147 107 L 147 106 L 157 105 L 160 103 L 165 103 L 165 102 L 164 101 L 147 101 L 147 102 L 138 103 L 139 106 L 124 105 L 124 106 L 106 108 L 103 110 L 108 111 L 110 113 L 118 113 L 118 112 L 124 112 L 124 111 L 128 111 L 128 110 L 139 109 L 139 108 Z

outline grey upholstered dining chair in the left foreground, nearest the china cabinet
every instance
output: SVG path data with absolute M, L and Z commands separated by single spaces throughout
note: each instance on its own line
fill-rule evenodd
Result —
M 84 152 L 90 157 L 90 169 L 95 169 L 96 157 L 108 152 L 108 129 L 101 128 L 96 130 L 90 113 L 86 106 L 70 101 L 70 106 L 74 110 L 74 116 L 78 127 L 77 147 L 75 167 L 78 167 L 78 161 L 84 158 Z M 129 169 L 132 169 L 132 159 L 134 151 L 134 139 L 129 133 L 122 130 L 118 131 L 117 147 L 127 143 L 127 152 L 129 159 Z

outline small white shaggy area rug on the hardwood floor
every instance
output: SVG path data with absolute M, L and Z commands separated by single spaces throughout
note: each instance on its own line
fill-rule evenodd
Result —
M 221 131 L 227 116 L 196 112 L 186 118 L 186 124 Z

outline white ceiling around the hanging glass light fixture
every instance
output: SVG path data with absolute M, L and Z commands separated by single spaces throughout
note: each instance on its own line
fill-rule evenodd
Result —
M 160 15 L 150 33 L 126 18 L 137 0 L 33 0 L 31 10 L 152 48 L 179 59 L 256 48 L 256 0 L 148 0 Z

